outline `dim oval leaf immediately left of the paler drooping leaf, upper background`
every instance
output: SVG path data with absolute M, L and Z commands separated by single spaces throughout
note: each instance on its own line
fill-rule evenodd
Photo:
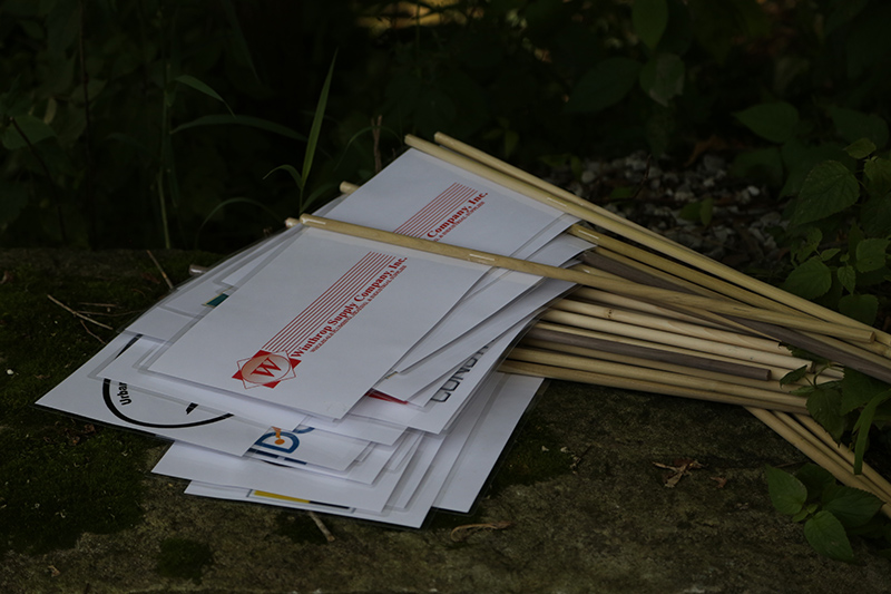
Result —
M 630 58 L 607 58 L 579 79 L 569 95 L 566 110 L 590 114 L 616 105 L 637 84 L 640 62 Z

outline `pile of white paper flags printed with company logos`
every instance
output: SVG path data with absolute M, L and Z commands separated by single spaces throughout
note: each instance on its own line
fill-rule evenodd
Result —
M 410 149 L 319 214 L 565 266 L 577 220 Z M 496 371 L 570 283 L 296 226 L 177 288 L 38 401 L 174 440 L 186 493 L 421 526 L 468 512 L 541 379 Z

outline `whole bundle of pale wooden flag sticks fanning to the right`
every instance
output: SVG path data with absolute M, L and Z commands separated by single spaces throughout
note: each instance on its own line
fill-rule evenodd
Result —
M 804 382 L 840 378 L 841 367 L 891 382 L 891 334 L 747 276 L 443 134 L 435 142 L 405 138 L 411 147 L 581 220 L 570 233 L 590 243 L 582 263 L 561 269 L 311 215 L 301 222 L 572 282 L 578 288 L 530 328 L 502 371 L 743 406 L 841 483 L 881 498 L 891 517 L 891 485 L 866 465 L 855 475 L 853 454 L 809 417 L 804 397 L 791 393 Z M 834 363 L 814 369 L 786 345 Z M 804 377 L 781 383 L 801 368 Z

